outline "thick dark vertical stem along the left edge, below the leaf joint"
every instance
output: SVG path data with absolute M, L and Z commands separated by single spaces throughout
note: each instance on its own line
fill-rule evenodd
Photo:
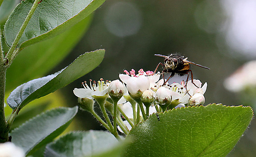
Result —
M 3 60 L 0 61 L 0 143 L 8 141 L 8 124 L 4 114 L 5 77 L 6 68 L 3 67 Z

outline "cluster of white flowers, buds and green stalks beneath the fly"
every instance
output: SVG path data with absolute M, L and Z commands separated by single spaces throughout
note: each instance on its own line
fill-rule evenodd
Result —
M 132 69 L 130 72 L 124 70 L 124 73 L 119 74 L 122 82 L 118 79 L 106 82 L 103 79 L 98 82 L 90 80 L 89 85 L 86 82 L 83 83 L 84 88 L 74 89 L 82 109 L 90 111 L 93 115 L 96 114 L 93 109 L 93 99 L 95 99 L 103 114 L 105 108 L 108 109 L 114 123 L 118 125 L 118 130 L 124 134 L 154 112 L 204 104 L 207 83 L 202 86 L 198 79 L 194 79 L 193 82 L 190 80 L 186 84 L 182 81 L 171 84 L 167 82 L 163 85 L 164 80 L 160 79 L 160 72 L 154 74 L 152 71 L 144 72 L 140 69 L 136 74 Z M 110 132 L 114 131 L 116 126 L 112 125 L 108 115 L 104 117 L 108 124 L 96 118 L 102 125 L 106 125 Z

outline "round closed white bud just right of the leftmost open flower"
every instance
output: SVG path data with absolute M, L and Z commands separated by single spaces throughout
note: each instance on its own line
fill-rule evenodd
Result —
M 118 101 L 126 92 L 125 86 L 118 79 L 111 81 L 108 86 L 108 94 L 113 101 Z

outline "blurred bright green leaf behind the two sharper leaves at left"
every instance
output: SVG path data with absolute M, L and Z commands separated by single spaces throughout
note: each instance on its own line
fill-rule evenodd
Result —
M 92 16 L 88 16 L 62 34 L 23 49 L 6 72 L 6 91 L 44 76 L 60 63 L 84 35 L 91 20 Z

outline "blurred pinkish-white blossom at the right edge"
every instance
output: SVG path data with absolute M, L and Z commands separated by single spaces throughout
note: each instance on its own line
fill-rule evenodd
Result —
M 224 87 L 229 91 L 238 92 L 256 87 L 256 60 L 247 62 L 224 81 Z

